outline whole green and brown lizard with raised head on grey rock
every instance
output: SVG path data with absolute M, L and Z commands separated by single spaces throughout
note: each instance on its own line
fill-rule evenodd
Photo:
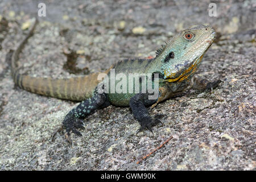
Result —
M 179 96 L 180 93 L 190 88 L 201 90 L 214 89 L 221 82 L 221 80 L 209 81 L 205 78 L 194 77 L 205 52 L 207 52 L 216 38 L 214 29 L 205 25 L 191 27 L 178 32 L 162 48 L 156 51 L 156 56 L 152 59 L 126 59 L 118 61 L 103 72 L 105 73 L 103 81 L 98 79 L 101 73 L 59 79 L 24 75 L 19 73 L 20 68 L 16 66 L 16 62 L 19 59 L 19 53 L 22 52 L 24 44 L 32 36 L 37 22 L 35 20 L 27 36 L 18 44 L 18 48 L 13 52 L 11 57 L 11 75 L 16 85 L 29 92 L 64 100 L 81 101 L 63 119 L 65 135 L 68 138 L 71 133 L 82 136 L 79 130 L 84 129 L 84 119 L 97 109 L 102 109 L 109 105 L 130 107 L 134 118 L 141 125 L 137 132 L 145 129 L 152 131 L 153 126 L 162 123 L 162 115 L 156 114 L 151 116 L 147 107 L 154 107 L 159 102 Z M 136 84 L 140 88 L 139 92 L 134 90 L 133 92 L 126 93 L 117 93 L 117 91 L 106 92 L 111 88 L 104 88 L 105 85 L 103 84 L 102 86 L 102 82 L 113 81 L 114 86 L 118 84 L 117 80 L 109 78 L 111 77 L 110 73 L 112 70 L 116 74 L 122 73 L 127 77 L 130 73 L 147 74 L 146 80 L 152 81 L 152 85 L 155 86 L 158 95 L 154 99 L 150 99 L 149 96 L 152 96 L 152 93 L 142 92 L 141 78 L 139 78 L 139 82 Z M 155 80 L 155 77 L 158 79 Z M 146 87 L 149 87 L 149 85 L 146 85 Z M 99 92 L 100 89 L 105 91 Z M 129 86 L 125 89 L 128 90 Z

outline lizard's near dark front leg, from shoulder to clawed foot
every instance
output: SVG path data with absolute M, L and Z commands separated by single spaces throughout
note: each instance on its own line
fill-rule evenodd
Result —
M 130 108 L 134 118 L 141 124 L 137 133 L 146 128 L 152 132 L 152 126 L 155 126 L 159 122 L 162 123 L 160 118 L 163 117 L 163 114 L 156 114 L 154 117 L 151 117 L 146 109 L 146 106 L 155 104 L 156 101 L 157 100 L 149 100 L 148 94 L 142 93 L 135 94 L 135 96 L 130 99 Z

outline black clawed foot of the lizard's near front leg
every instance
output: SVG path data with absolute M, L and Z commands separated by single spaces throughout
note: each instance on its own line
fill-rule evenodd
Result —
M 139 121 L 141 123 L 141 127 L 137 130 L 137 134 L 144 129 L 148 129 L 153 133 L 152 126 L 156 126 L 158 123 L 161 123 L 164 126 L 163 122 L 161 121 L 161 118 L 164 116 L 166 116 L 166 114 L 156 114 L 154 117 L 141 119 L 141 121 Z

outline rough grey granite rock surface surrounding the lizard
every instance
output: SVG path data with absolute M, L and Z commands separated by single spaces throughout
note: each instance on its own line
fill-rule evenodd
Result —
M 56 78 L 102 71 L 128 57 L 155 56 L 176 31 L 208 23 L 218 37 L 197 75 L 222 83 L 212 92 L 190 90 L 156 106 L 151 113 L 167 117 L 154 134 L 136 134 L 139 123 L 129 108 L 109 106 L 85 119 L 83 137 L 72 135 L 72 147 L 61 132 L 52 141 L 77 104 L 14 86 L 10 51 L 27 32 L 38 2 L 3 0 L 0 170 L 255 170 L 255 1 L 216 2 L 217 17 L 208 15 L 210 1 L 40 2 L 47 15 L 20 55 L 24 73 Z

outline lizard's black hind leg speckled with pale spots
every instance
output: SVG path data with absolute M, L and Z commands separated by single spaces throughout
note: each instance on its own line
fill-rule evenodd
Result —
M 77 107 L 69 111 L 63 120 L 63 126 L 66 129 L 68 136 L 70 132 L 82 136 L 77 129 L 84 128 L 84 122 L 82 121 L 86 116 L 92 114 L 97 109 L 102 109 L 110 105 L 108 96 L 105 93 L 97 93 L 97 89 L 94 90 L 93 97 L 82 101 Z

